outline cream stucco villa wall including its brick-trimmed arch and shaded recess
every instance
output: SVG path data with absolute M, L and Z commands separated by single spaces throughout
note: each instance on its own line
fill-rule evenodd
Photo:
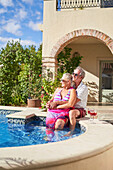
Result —
M 54 78 L 58 53 L 65 46 L 71 47 L 72 54 L 77 51 L 84 57 L 81 63 L 86 71 L 84 81 L 88 86 L 93 85 L 93 89 L 89 87 L 91 94 L 88 101 L 99 101 L 100 61 L 113 60 L 112 18 L 112 8 L 94 7 L 56 11 L 56 0 L 44 0 L 44 18 L 41 26 L 43 72 L 49 68 Z M 84 43 L 77 43 L 83 37 L 86 38 Z M 92 38 L 91 43 L 87 42 L 87 37 Z

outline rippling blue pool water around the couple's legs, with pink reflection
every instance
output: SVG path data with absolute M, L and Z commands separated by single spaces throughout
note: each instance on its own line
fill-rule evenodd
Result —
M 79 136 L 85 132 L 85 129 L 81 130 L 79 124 L 77 124 L 73 135 L 64 136 L 69 132 L 69 128 L 62 131 L 46 129 L 45 118 L 42 120 L 39 117 L 25 125 L 8 123 L 6 115 L 15 112 L 0 110 L 0 148 L 58 142 Z

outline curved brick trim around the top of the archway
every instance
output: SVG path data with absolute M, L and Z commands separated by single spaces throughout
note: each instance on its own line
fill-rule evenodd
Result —
M 106 44 L 106 46 L 110 49 L 111 53 L 113 54 L 113 39 L 112 38 L 110 38 L 108 35 L 98 30 L 80 29 L 80 30 L 73 31 L 63 36 L 56 43 L 56 45 L 53 46 L 51 53 L 50 53 L 50 57 L 56 57 L 66 45 L 72 42 L 76 37 L 80 37 L 80 36 L 90 36 L 90 37 L 95 37 L 97 39 L 100 39 Z

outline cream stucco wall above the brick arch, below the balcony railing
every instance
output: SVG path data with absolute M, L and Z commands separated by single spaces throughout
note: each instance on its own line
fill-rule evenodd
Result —
M 57 41 L 74 30 L 94 29 L 113 38 L 113 9 L 84 8 L 56 11 L 56 0 L 44 1 L 43 56 L 49 56 Z

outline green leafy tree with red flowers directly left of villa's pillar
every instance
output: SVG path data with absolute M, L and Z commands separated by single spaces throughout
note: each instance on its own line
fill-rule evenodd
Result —
M 42 45 L 38 51 L 34 46 L 29 46 L 24 51 L 23 65 L 19 74 L 19 83 L 23 89 L 23 98 L 39 97 L 41 92 L 41 74 L 42 74 Z

